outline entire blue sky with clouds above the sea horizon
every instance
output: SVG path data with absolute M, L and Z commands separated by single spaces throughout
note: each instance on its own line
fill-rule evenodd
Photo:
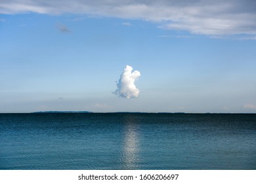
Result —
M 256 113 L 256 1 L 1 0 L 0 112 Z

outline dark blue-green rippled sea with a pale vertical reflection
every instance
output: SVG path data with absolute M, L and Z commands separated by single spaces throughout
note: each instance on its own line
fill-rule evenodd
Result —
M 256 114 L 0 114 L 0 169 L 256 169 Z

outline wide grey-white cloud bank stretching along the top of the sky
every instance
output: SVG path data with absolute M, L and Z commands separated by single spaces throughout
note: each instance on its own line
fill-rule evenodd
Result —
M 255 0 L 2 0 L 0 12 L 87 14 L 146 20 L 203 35 L 256 35 Z

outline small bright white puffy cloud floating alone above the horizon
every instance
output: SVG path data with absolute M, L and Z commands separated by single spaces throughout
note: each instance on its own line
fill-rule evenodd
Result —
M 117 89 L 114 94 L 127 99 L 138 97 L 140 90 L 136 88 L 135 80 L 139 78 L 140 72 L 132 71 L 133 67 L 126 65 L 125 69 L 123 69 L 123 73 L 120 75 L 119 81 L 116 84 Z

